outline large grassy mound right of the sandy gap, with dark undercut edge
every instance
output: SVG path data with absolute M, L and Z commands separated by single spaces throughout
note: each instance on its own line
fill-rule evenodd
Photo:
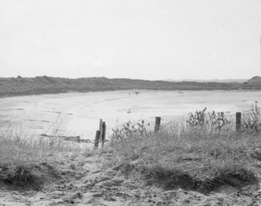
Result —
M 109 146 L 116 151 L 113 165 L 138 170 L 166 190 L 210 192 L 220 185 L 242 187 L 258 182 L 258 159 L 249 152 L 261 146 L 258 133 L 237 135 L 234 124 L 228 122 L 218 130 L 172 124 L 153 133 L 143 123 L 129 123 L 114 131 Z

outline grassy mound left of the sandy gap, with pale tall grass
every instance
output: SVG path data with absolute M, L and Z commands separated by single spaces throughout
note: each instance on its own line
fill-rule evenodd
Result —
M 79 144 L 59 137 L 37 137 L 0 130 L 0 182 L 16 186 L 34 184 L 46 174 L 42 165 L 58 152 L 79 151 Z M 48 174 L 49 175 L 49 174 Z

